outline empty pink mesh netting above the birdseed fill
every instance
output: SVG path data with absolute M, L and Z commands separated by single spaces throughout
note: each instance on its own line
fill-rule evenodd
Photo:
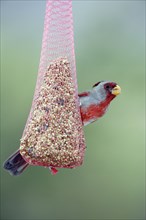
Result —
M 44 32 L 42 39 L 42 49 L 38 69 L 38 77 L 32 107 L 29 117 L 27 119 L 27 123 L 31 118 L 33 107 L 35 105 L 35 99 L 38 96 L 39 89 L 42 85 L 42 81 L 47 67 L 49 66 L 51 61 L 55 60 L 58 57 L 67 57 L 70 63 L 78 107 L 79 102 L 74 52 L 72 0 L 46 1 Z

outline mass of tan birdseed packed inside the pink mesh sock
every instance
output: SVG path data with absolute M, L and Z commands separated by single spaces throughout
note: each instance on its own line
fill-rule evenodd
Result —
M 85 139 L 66 58 L 53 61 L 20 140 L 20 153 L 31 165 L 73 168 L 83 162 Z

